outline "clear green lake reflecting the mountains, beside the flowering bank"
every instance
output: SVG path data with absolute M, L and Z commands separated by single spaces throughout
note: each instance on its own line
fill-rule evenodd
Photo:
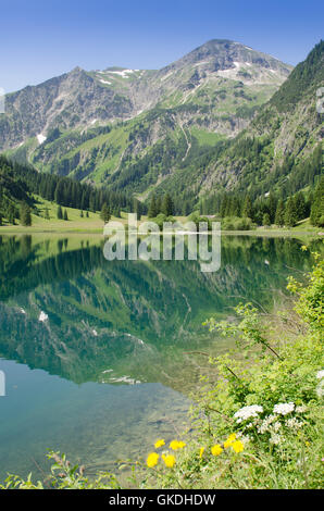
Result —
M 222 264 L 107 261 L 90 235 L 0 236 L 0 481 L 41 478 L 47 449 L 89 475 L 179 437 L 205 358 L 230 340 L 202 322 L 267 310 L 310 267 L 292 238 L 223 236 Z M 313 241 L 314 247 L 316 241 Z

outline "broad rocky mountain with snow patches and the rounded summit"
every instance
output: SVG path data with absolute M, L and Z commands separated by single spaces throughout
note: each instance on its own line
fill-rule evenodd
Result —
M 290 71 L 221 39 L 158 71 L 76 67 L 7 95 L 0 151 L 146 198 L 178 166 L 247 127 Z

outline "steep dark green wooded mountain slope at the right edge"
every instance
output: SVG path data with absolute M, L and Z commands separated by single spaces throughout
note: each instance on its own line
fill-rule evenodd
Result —
M 316 108 L 323 84 L 321 41 L 221 157 L 211 155 L 197 177 L 200 194 L 224 188 L 287 196 L 312 185 L 323 173 L 323 113 Z

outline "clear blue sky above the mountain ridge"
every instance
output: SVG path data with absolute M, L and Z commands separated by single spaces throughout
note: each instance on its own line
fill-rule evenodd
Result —
M 0 88 L 76 65 L 159 68 L 213 38 L 297 64 L 323 38 L 323 20 L 314 0 L 1 0 Z

